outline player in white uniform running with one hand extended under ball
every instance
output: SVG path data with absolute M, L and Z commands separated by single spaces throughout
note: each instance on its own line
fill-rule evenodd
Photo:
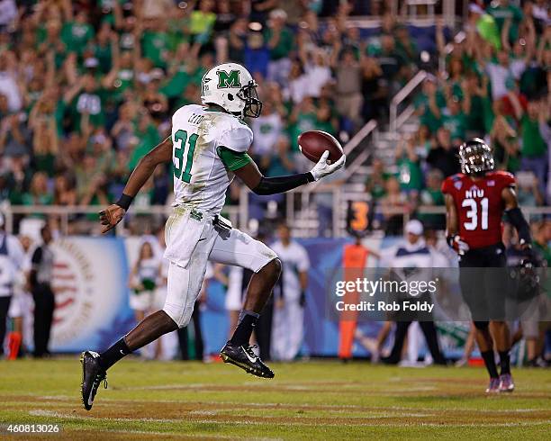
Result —
M 235 63 L 213 67 L 203 76 L 201 99 L 203 105 L 185 105 L 174 113 L 171 136 L 140 160 L 119 201 L 100 212 L 103 232 L 113 229 L 155 167 L 172 160 L 176 202 L 166 228 L 165 257 L 170 262 L 167 301 L 161 311 L 142 320 L 113 347 L 101 354 L 82 354 L 81 392 L 86 410 L 92 408 L 107 369 L 123 356 L 188 324 L 207 260 L 255 272 L 238 326 L 221 349 L 223 361 L 249 374 L 274 377 L 248 340 L 280 275 L 281 262 L 266 245 L 221 218 L 226 189 L 237 175 L 254 193 L 284 193 L 339 170 L 345 157 L 330 164 L 326 151 L 308 173 L 265 177 L 247 154 L 252 131 L 242 119 L 257 118 L 262 110 L 257 83 L 247 69 Z

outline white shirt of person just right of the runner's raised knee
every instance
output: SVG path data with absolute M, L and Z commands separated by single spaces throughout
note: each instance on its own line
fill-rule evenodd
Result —
M 287 247 L 278 240 L 271 247 L 283 264 L 283 288 L 286 299 L 298 299 L 301 295 L 301 282 L 299 273 L 308 271 L 310 259 L 306 248 L 291 240 Z

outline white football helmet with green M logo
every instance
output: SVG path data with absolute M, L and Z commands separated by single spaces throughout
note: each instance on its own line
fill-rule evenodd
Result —
M 245 67 L 237 63 L 224 63 L 204 74 L 201 101 L 203 104 L 218 104 L 240 118 L 257 118 L 262 111 L 257 82 Z

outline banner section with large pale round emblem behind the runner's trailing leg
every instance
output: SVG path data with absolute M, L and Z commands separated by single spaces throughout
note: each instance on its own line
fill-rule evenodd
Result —
M 56 310 L 52 352 L 101 350 L 134 323 L 128 302 L 128 263 L 121 238 L 60 238 L 52 287 Z

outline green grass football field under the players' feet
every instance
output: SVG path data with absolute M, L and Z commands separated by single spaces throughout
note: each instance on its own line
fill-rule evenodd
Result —
M 551 433 L 549 370 L 516 370 L 517 392 L 486 397 L 482 368 L 335 361 L 272 367 L 276 378 L 262 380 L 218 363 L 124 360 L 109 372 L 109 388 L 100 389 L 94 409 L 86 412 L 78 395 L 77 357 L 2 362 L 0 425 L 58 423 L 61 436 L 43 438 L 96 440 L 541 440 Z

